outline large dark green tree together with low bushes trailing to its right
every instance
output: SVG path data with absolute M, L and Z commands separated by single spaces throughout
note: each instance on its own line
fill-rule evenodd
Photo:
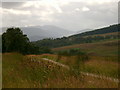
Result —
M 50 53 L 51 50 L 45 47 L 45 45 L 38 47 L 30 42 L 27 35 L 23 34 L 20 28 L 8 28 L 7 31 L 2 34 L 2 52 L 42 54 Z

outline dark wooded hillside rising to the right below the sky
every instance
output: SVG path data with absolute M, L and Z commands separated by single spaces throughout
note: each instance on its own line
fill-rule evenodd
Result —
M 114 40 L 118 39 L 119 36 L 119 25 L 112 25 L 110 27 L 105 27 L 93 31 L 88 31 L 76 35 L 71 35 L 69 37 L 62 37 L 56 39 L 43 39 L 33 42 L 37 46 L 46 46 L 49 48 L 68 46 L 74 44 L 82 43 L 94 43 L 104 40 Z

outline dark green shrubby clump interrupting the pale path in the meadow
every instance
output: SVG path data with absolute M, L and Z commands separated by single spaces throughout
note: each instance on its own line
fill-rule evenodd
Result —
M 67 61 L 70 61 L 69 58 L 71 56 L 74 56 L 74 64 L 71 64 L 69 62 L 69 67 L 71 70 L 71 73 L 73 73 L 76 77 L 80 76 L 80 72 L 82 68 L 84 67 L 85 61 L 88 60 L 88 55 L 85 52 L 82 52 L 80 49 L 69 49 L 64 51 L 58 52 L 57 62 L 62 58 L 62 56 L 67 57 Z

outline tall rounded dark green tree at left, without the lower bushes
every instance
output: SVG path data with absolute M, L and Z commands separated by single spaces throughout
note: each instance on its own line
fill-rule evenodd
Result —
M 24 35 L 19 28 L 8 28 L 2 34 L 2 51 L 23 53 L 28 42 L 27 35 Z

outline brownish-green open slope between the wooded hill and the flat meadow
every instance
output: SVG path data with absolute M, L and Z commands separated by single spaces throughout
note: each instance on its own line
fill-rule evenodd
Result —
M 90 56 L 118 56 L 118 46 L 120 40 L 107 40 L 95 43 L 75 44 L 64 47 L 53 48 L 54 52 L 76 49 L 87 52 Z M 117 59 L 116 59 L 117 60 Z

